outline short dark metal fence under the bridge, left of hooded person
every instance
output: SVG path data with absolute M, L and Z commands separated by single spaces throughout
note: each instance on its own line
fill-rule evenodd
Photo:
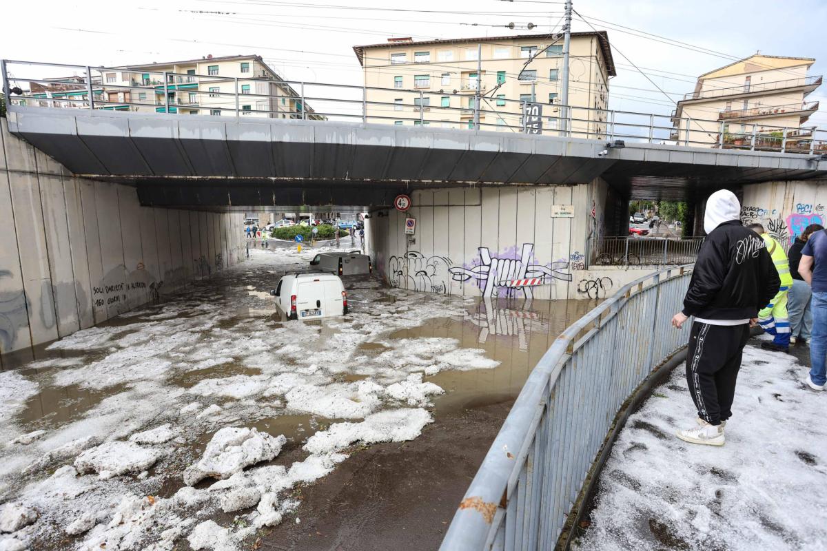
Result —
M 589 240 L 589 266 L 679 266 L 695 262 L 703 237 L 602 237 Z

